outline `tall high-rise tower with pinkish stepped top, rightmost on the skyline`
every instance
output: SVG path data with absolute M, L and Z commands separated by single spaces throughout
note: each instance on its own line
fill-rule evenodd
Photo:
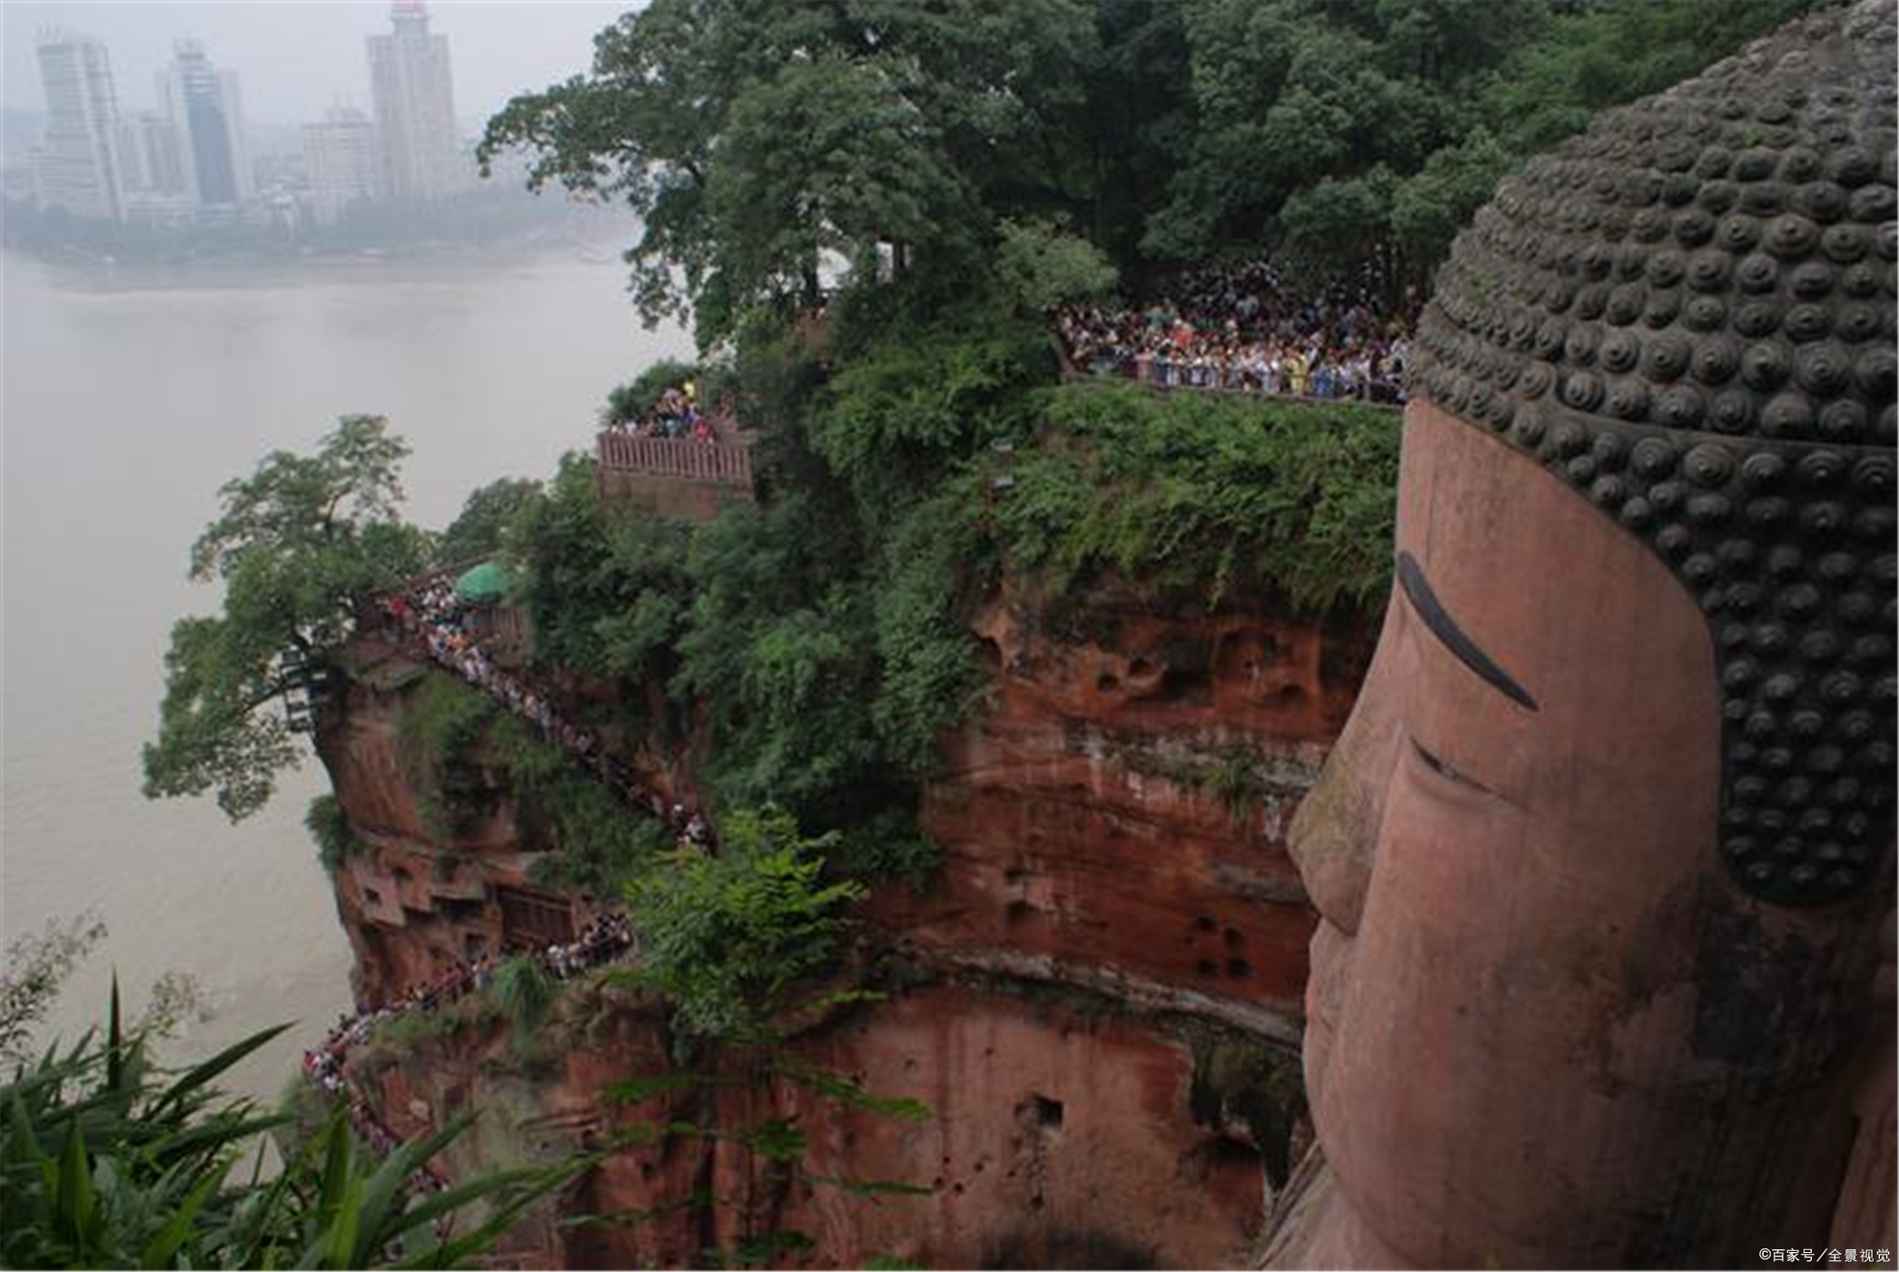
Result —
M 399 203 L 427 203 L 467 186 L 467 161 L 456 137 L 448 36 L 429 34 L 422 0 L 395 0 L 389 25 L 389 34 L 368 38 L 380 192 Z

